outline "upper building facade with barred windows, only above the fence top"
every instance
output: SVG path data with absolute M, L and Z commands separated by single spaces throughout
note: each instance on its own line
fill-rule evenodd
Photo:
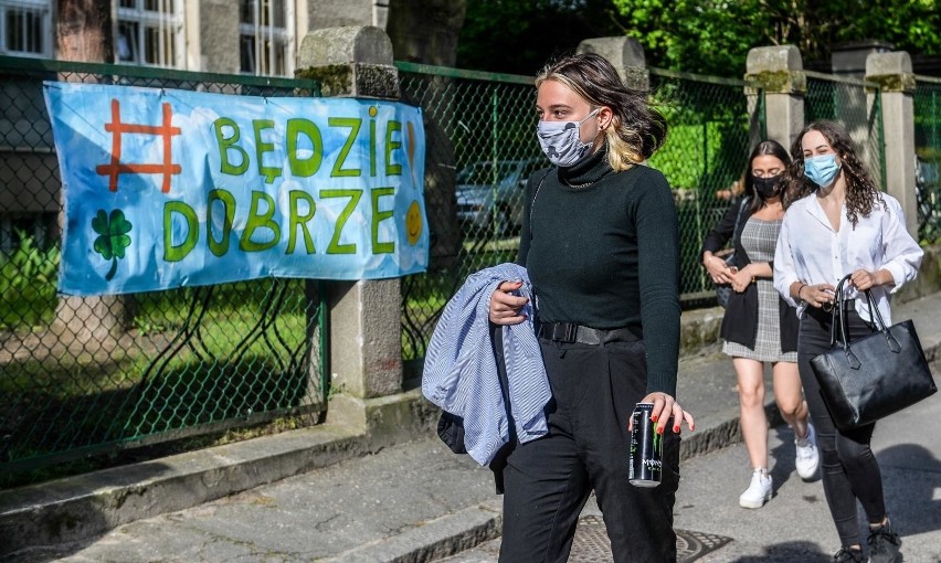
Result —
M 0 55 L 56 59 L 56 0 L 0 0 Z M 290 76 L 300 39 L 385 29 L 388 0 L 113 0 L 115 63 Z

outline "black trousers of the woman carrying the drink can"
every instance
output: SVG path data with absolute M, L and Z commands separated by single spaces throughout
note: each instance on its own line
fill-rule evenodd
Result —
M 627 480 L 627 423 L 634 405 L 647 394 L 644 343 L 540 339 L 540 344 L 552 387 L 549 434 L 516 444 L 506 459 L 500 561 L 567 561 L 592 489 L 614 561 L 676 561 L 673 507 L 679 436 L 665 434 L 658 487 L 638 488 Z

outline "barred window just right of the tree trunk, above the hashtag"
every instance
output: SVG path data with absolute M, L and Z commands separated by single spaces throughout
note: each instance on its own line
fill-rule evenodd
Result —
M 183 8 L 180 0 L 120 0 L 115 57 L 118 63 L 181 66 Z

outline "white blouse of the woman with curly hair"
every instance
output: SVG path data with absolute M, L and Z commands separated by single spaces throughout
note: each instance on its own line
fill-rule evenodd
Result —
M 876 272 L 886 269 L 895 285 L 871 289 L 876 307 L 886 323 L 891 325 L 889 294 L 898 291 L 918 275 L 924 252 L 905 227 L 905 217 L 898 200 L 882 193 L 889 210 L 876 203 L 868 217 L 859 216 L 856 226 L 846 216 L 846 204 L 839 219 L 839 231 L 834 231 L 815 194 L 791 204 L 784 213 L 778 247 L 774 252 L 774 288 L 804 316 L 806 304 L 791 297 L 791 285 L 836 284 L 857 269 Z M 847 298 L 857 297 L 849 288 Z M 856 299 L 856 311 L 873 321 L 866 296 Z

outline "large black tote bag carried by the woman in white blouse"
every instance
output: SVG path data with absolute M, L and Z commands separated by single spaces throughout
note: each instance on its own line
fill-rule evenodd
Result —
M 843 302 L 848 280 L 846 276 L 836 286 L 837 305 Z M 868 289 L 866 299 L 878 331 L 847 341 L 846 307 L 836 306 L 831 326 L 832 348 L 811 360 L 821 394 L 840 431 L 871 424 L 938 391 L 912 321 L 886 327 Z M 837 311 L 839 342 L 835 332 Z

